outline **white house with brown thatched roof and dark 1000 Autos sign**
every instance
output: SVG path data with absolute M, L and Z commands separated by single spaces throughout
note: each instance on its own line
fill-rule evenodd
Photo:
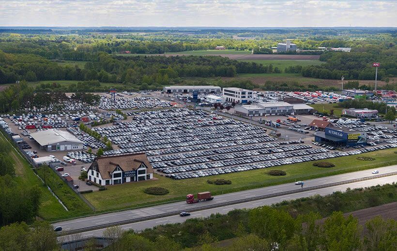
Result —
M 96 184 L 116 185 L 153 179 L 153 167 L 145 153 L 97 157 L 87 171 Z

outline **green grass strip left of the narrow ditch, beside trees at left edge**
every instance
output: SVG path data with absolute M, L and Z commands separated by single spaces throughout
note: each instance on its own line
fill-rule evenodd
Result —
M 5 136 L 0 133 L 0 144 L 10 144 Z M 56 220 L 73 217 L 71 212 L 66 211 L 57 199 L 43 186 L 41 180 L 31 170 L 30 164 L 14 148 L 9 154 L 15 161 L 15 182 L 19 186 L 32 187 L 39 186 L 42 196 L 40 199 L 39 217 L 44 220 Z

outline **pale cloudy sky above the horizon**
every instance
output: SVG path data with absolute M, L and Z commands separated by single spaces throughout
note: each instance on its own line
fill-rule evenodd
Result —
M 0 0 L 0 26 L 397 27 L 397 0 Z

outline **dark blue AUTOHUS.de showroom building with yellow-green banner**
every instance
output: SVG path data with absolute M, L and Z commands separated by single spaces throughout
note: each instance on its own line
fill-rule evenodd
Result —
M 366 132 L 351 131 L 347 127 L 326 127 L 323 132 L 314 134 L 314 140 L 337 147 L 366 145 Z

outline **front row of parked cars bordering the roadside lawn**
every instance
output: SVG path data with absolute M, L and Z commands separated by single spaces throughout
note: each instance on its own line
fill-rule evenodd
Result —
M 382 150 L 382 149 L 387 149 L 387 148 L 395 148 L 395 147 L 397 147 L 397 144 L 388 144 L 388 145 L 382 145 L 382 146 L 354 150 L 351 152 L 332 152 L 332 153 L 322 153 L 322 154 L 316 154 L 316 155 L 310 155 L 310 156 L 304 156 L 304 157 L 291 157 L 291 158 L 282 159 L 282 160 L 271 160 L 271 161 L 267 161 L 267 162 L 263 162 L 263 163 L 241 165 L 241 166 L 237 166 L 237 167 L 220 167 L 220 168 L 214 168 L 211 170 L 198 170 L 198 171 L 185 172 L 185 173 L 171 173 L 171 174 L 166 174 L 165 176 L 172 178 L 172 179 L 176 179 L 176 180 L 206 177 L 206 176 L 218 175 L 218 174 L 223 174 L 223 173 L 244 172 L 244 171 L 248 171 L 248 170 L 275 167 L 275 166 L 281 166 L 281 165 L 286 165 L 286 164 L 301 163 L 301 162 L 306 162 L 306 161 L 322 160 L 322 159 L 328 159 L 328 158 L 334 158 L 334 157 L 356 155 L 356 154 L 377 151 L 377 150 Z

